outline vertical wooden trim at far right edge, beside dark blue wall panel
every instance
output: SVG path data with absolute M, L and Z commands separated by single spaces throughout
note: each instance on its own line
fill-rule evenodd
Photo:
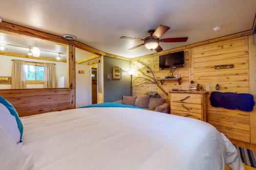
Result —
M 249 45 L 249 92 L 256 101 L 256 34 L 248 36 Z M 256 106 L 250 112 L 250 142 L 256 144 Z

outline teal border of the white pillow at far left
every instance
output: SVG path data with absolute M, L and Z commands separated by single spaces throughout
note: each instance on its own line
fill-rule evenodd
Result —
M 20 120 L 17 111 L 15 110 L 15 108 L 12 106 L 12 104 L 10 102 L 8 102 L 5 98 L 3 98 L 2 96 L 0 96 L 0 103 L 3 104 L 11 113 L 11 115 L 13 115 L 16 119 L 17 125 L 18 125 L 18 130 L 20 132 L 20 142 L 22 142 L 22 135 L 23 135 L 23 125 L 22 125 L 22 120 Z

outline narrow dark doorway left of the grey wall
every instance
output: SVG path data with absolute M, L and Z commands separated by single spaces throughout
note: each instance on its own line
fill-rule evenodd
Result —
M 92 104 L 97 104 L 98 103 L 98 95 L 97 95 L 97 91 L 98 91 L 98 68 L 97 68 L 98 64 L 94 64 L 92 65 Z

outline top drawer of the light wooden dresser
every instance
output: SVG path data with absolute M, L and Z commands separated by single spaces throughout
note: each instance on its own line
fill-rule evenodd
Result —
M 172 94 L 171 102 L 202 104 L 201 94 Z

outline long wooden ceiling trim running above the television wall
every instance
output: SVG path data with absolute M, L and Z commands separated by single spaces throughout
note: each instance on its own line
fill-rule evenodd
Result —
M 214 39 L 210 39 L 210 40 L 206 40 L 206 41 L 196 42 L 196 43 L 192 43 L 192 44 L 172 48 L 172 49 L 161 51 L 161 52 L 158 52 L 158 53 L 153 53 L 153 54 L 148 54 L 148 55 L 144 55 L 144 56 L 140 56 L 140 57 L 135 57 L 135 58 L 132 58 L 131 61 L 136 61 L 136 60 L 147 58 L 147 57 L 165 55 L 165 54 L 169 54 L 169 53 L 173 53 L 173 52 L 177 52 L 177 51 L 186 50 L 188 48 L 193 48 L 193 47 L 196 47 L 196 46 L 206 45 L 206 44 L 219 42 L 219 41 L 224 41 L 224 40 L 233 39 L 233 38 L 238 38 L 238 37 L 243 37 L 243 36 L 246 36 L 246 35 L 251 35 L 252 33 L 253 33 L 252 30 L 243 31 L 243 32 L 236 33 L 236 34 L 226 35 L 226 36 L 219 37 L 219 38 L 214 38 Z

